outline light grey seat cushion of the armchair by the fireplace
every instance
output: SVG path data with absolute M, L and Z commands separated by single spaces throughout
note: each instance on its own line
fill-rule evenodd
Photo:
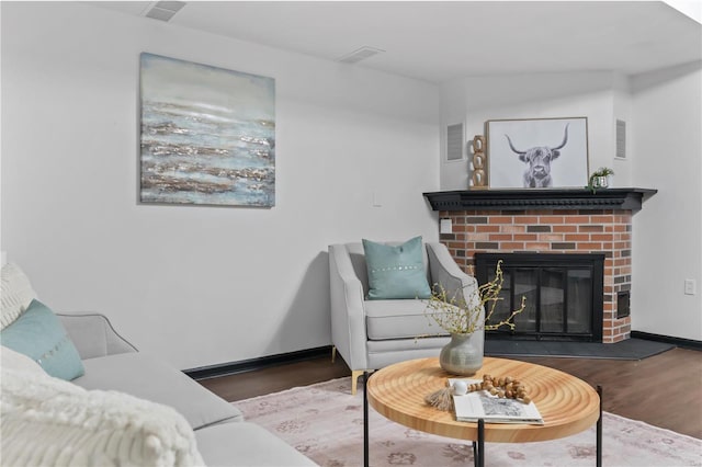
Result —
M 424 300 L 366 300 L 364 308 L 367 335 L 372 341 L 446 335 L 424 314 Z

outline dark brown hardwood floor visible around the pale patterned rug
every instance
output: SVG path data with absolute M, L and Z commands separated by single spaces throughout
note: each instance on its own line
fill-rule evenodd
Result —
M 641 361 L 520 357 L 602 385 L 603 408 L 629 419 L 702 438 L 702 352 L 672 349 Z M 200 383 L 228 401 L 305 386 L 351 372 L 322 357 Z M 359 392 L 358 397 L 362 397 Z

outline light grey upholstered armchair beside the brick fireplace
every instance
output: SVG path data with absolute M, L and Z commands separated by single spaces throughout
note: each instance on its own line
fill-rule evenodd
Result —
M 423 265 L 430 286 L 441 284 L 449 296 L 463 289 L 466 303 L 477 294 L 476 280 L 461 271 L 444 244 L 424 243 Z M 332 352 L 351 368 L 352 394 L 363 372 L 439 356 L 449 342 L 448 334 L 426 315 L 427 300 L 367 299 L 369 274 L 361 242 L 331 244 L 329 272 Z

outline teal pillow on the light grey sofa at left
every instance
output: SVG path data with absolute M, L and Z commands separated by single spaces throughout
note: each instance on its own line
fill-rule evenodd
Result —
M 34 360 L 57 378 L 71 380 L 86 373 L 60 320 L 39 300 L 32 300 L 18 319 L 0 332 L 0 343 Z

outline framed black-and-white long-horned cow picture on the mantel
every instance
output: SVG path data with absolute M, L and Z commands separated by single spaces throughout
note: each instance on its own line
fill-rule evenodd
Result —
M 490 119 L 490 189 L 581 189 L 588 184 L 588 119 Z

